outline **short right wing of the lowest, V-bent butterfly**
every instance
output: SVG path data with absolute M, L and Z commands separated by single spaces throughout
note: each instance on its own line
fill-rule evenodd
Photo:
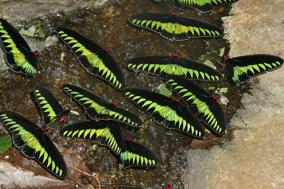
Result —
M 134 166 L 155 167 L 159 163 L 158 156 L 149 148 L 126 141 L 120 153 L 122 168 Z

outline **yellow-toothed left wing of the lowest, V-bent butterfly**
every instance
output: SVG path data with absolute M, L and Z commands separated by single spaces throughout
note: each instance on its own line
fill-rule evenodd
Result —
M 80 121 L 63 127 L 60 135 L 65 137 L 87 139 L 100 145 L 111 148 L 116 154 L 120 154 L 123 147 L 123 135 L 117 121 L 95 122 L 93 120 Z

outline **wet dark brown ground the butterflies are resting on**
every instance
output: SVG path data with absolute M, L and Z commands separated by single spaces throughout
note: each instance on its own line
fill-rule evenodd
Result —
M 154 75 L 134 72 L 124 67 L 123 63 L 126 60 L 137 56 L 172 55 L 173 52 L 178 52 L 180 57 L 195 61 L 205 62 L 205 59 L 210 59 L 216 68 L 225 74 L 224 67 L 218 64 L 218 62 L 224 62 L 223 57 L 219 56 L 220 49 L 225 47 L 225 52 L 228 51 L 228 43 L 224 39 L 197 38 L 184 42 L 170 42 L 160 35 L 131 27 L 127 22 L 128 18 L 136 13 L 169 13 L 176 7 L 176 4 L 171 0 L 164 0 L 159 4 L 145 0 L 111 0 L 102 7 L 80 8 L 68 13 L 60 12 L 55 15 L 46 15 L 28 20 L 24 25 L 29 28 L 31 25 L 40 23 L 45 32 L 44 37 L 34 37 L 40 41 L 45 41 L 48 36 L 54 35 L 57 26 L 68 26 L 85 34 L 103 48 L 109 46 L 110 55 L 125 73 L 126 86 L 157 90 L 157 87 L 164 82 Z M 190 9 L 182 10 L 179 14 L 210 21 L 221 27 L 221 17 L 225 16 L 228 10 L 227 6 L 225 10 L 217 9 L 213 13 L 203 14 L 200 17 Z M 63 60 L 61 60 L 62 57 L 64 57 Z M 218 83 L 195 83 L 207 90 L 211 86 L 216 87 L 216 91 L 218 91 L 218 88 L 228 87 L 228 92 L 222 95 L 229 100 L 229 103 L 221 105 L 227 124 L 237 109 L 242 107 L 240 104 L 242 94 L 250 88 L 250 84 L 244 84 L 240 87 L 233 86 L 226 79 Z M 69 108 L 78 113 L 78 115 L 71 114 L 69 120 L 50 129 L 48 134 L 51 140 L 57 144 L 74 149 L 82 155 L 91 171 L 98 171 L 100 174 L 113 178 L 112 181 L 104 179 L 101 184 L 114 184 L 110 182 L 122 180 L 131 185 L 142 187 L 164 188 L 167 184 L 170 184 L 174 189 L 183 188 L 181 175 L 188 164 L 186 152 L 192 139 L 155 124 L 148 114 L 125 99 L 119 90 L 98 77 L 88 74 L 63 43 L 57 42 L 40 52 L 38 73 L 33 79 L 26 79 L 10 71 L 1 71 L 0 110 L 11 109 L 35 123 L 39 122 L 40 116 L 32 100 L 33 88 L 37 84 L 49 89 L 64 108 Z M 120 170 L 118 167 L 119 157 L 108 148 L 99 145 L 92 147 L 95 143 L 91 141 L 61 137 L 59 129 L 64 125 L 75 120 L 87 119 L 83 110 L 62 92 L 62 84 L 76 84 L 85 87 L 108 102 L 117 101 L 118 107 L 125 108 L 139 116 L 143 125 L 138 131 L 123 129 L 122 132 L 124 136 L 130 134 L 134 142 L 152 149 L 159 156 L 159 165 L 151 170 L 138 168 Z M 213 92 L 212 90 L 208 91 Z M 0 133 L 3 135 L 5 129 L 2 126 L 0 126 L 0 129 Z M 222 145 L 224 141 L 230 141 L 234 137 L 232 132 L 233 130 L 228 125 L 223 141 L 218 142 L 219 145 Z M 207 133 L 207 135 L 210 134 Z M 88 184 L 90 181 L 85 179 L 81 182 Z

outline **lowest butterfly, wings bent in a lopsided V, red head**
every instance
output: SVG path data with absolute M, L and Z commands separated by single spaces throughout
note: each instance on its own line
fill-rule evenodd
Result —
M 121 122 L 113 120 L 80 121 L 65 126 L 60 130 L 60 135 L 72 138 L 81 138 L 95 141 L 96 143 L 111 148 L 120 155 L 122 168 L 133 166 L 155 167 L 158 156 L 149 148 L 131 142 L 131 137 L 124 137 L 119 126 Z

